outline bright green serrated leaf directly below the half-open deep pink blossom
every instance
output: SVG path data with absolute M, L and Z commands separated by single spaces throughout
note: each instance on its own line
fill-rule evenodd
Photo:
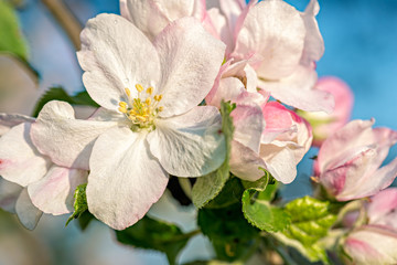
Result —
M 277 184 L 272 183 L 271 176 L 265 171 L 265 176 L 255 182 L 245 182 L 248 187 L 244 191 L 242 202 L 243 212 L 249 223 L 256 227 L 278 232 L 288 227 L 290 216 L 280 208 L 270 204 L 277 191 Z

